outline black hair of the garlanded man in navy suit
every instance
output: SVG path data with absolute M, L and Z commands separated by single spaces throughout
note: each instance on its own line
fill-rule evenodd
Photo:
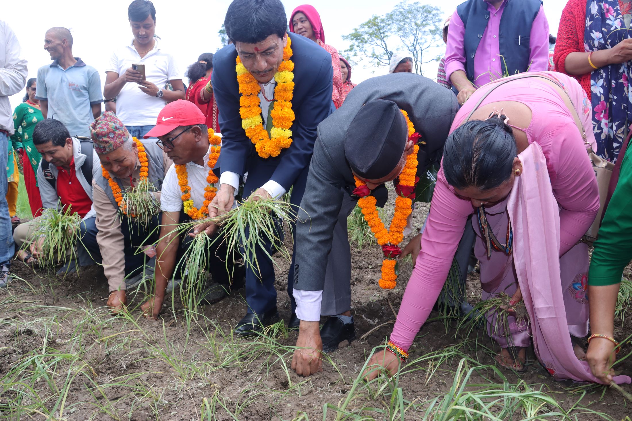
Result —
M 256 44 L 270 35 L 283 38 L 288 18 L 280 0 L 234 0 L 228 6 L 224 28 L 233 44 Z

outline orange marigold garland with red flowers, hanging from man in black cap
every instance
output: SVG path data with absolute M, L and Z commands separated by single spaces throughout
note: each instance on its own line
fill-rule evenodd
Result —
M 408 124 L 408 138 L 416 143 L 420 138 L 420 134 L 415 133 L 415 127 L 413 127 L 413 123 L 408 118 L 406 111 L 401 110 L 401 112 L 406 119 L 406 124 Z M 415 184 L 419 181 L 418 177 L 416 177 L 418 151 L 419 145 L 415 145 L 413 153 L 406 157 L 406 165 L 404 165 L 404 169 L 399 174 L 399 182 L 395 189 L 398 193 L 395 199 L 395 213 L 388 230 L 380 219 L 376 208 L 377 201 L 374 196 L 371 196 L 371 191 L 368 189 L 367 184 L 358 177 L 354 177 L 356 189 L 353 191 L 353 194 L 360 196 L 358 206 L 360 206 L 365 221 L 367 221 L 368 226 L 375 235 L 377 244 L 382 246 L 382 252 L 384 252 L 385 259 L 382 261 L 382 277 L 379 284 L 380 287 L 387 290 L 395 288 L 397 285 L 396 258 L 401 254 L 399 243 L 404 239 L 403 232 L 404 227 L 406 227 L 406 218 L 413 211 Z

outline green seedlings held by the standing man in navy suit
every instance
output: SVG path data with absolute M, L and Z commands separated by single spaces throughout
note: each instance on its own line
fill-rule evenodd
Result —
M 213 238 L 209 238 L 204 233 L 197 235 L 176 265 L 176 271 L 186 273 L 188 285 L 181 287 L 181 295 L 188 309 L 193 310 L 199 304 L 197 295 L 204 289 L 207 259 L 212 258 L 209 248 L 214 250 L 222 243 L 226 245 L 226 256 L 217 257 L 226 262 L 226 270 L 231 275 L 234 273 L 234 267 L 229 267 L 228 263 L 232 261 L 229 257 L 234 254 L 241 254 L 243 263 L 253 268 L 255 272 L 260 271 L 255 254 L 257 249 L 262 250 L 273 262 L 272 254 L 277 252 L 289 261 L 291 255 L 283 244 L 281 220 L 288 222 L 288 230 L 291 232 L 291 227 L 298 218 L 295 207 L 283 200 L 247 200 L 223 215 L 179 224 L 172 231 L 177 232 L 178 235 L 188 234 L 193 227 L 204 222 L 212 221 L 221 225 L 218 234 Z M 272 249 L 267 249 L 264 244 L 272 244 Z

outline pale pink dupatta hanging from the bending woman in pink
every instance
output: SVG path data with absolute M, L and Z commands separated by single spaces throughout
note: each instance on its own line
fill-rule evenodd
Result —
M 585 361 L 573 353 L 559 263 L 559 206 L 542 148 L 532 143 L 518 155 L 523 173 L 516 177 L 507 213 L 514 231 L 513 259 L 518 283 L 529 313 L 533 349 L 556 380 L 601 383 Z M 616 376 L 617 384 L 630 383 Z

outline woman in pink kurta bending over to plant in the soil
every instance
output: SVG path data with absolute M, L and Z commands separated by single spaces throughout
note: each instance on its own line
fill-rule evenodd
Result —
M 598 380 L 580 361 L 583 350 L 571 342 L 571 336 L 588 332 L 588 247 L 578 240 L 599 210 L 599 191 L 569 107 L 581 121 L 586 142 L 594 144 L 590 102 L 572 78 L 536 75 L 543 77 L 514 76 L 477 107 L 503 80 L 482 86 L 456 115 L 390 339 L 403 350 L 410 348 L 439 297 L 468 216 L 474 214 L 483 299 L 499 292 L 523 298 L 530 316 L 528 324 L 510 317 L 509 332 L 490 331 L 505 348 L 499 363 L 521 369 L 524 353 L 514 355 L 506 348 L 523 349 L 533 339 L 538 359 L 554 378 L 594 382 Z M 502 243 L 498 250 L 491 247 L 494 241 L 487 250 L 489 234 L 478 224 L 481 210 Z M 411 245 L 419 240 L 415 237 Z M 391 374 L 398 369 L 397 357 L 387 350 L 376 353 L 372 363 Z M 369 377 L 375 376 L 377 372 Z M 629 377 L 616 381 L 629 382 Z

